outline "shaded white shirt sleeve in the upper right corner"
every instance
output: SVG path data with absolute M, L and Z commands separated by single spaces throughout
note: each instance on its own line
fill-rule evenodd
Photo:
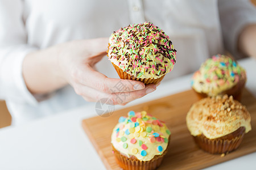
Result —
M 256 24 L 256 7 L 249 0 L 218 0 L 218 10 L 224 46 L 236 59 L 242 58 L 238 36 L 246 25 Z

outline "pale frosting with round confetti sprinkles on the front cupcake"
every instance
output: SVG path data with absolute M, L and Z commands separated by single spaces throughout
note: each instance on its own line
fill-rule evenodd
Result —
M 168 144 L 171 134 L 162 121 L 144 111 L 130 111 L 127 117 L 120 117 L 114 133 L 115 141 L 120 143 L 123 149 L 143 157 L 150 155 L 153 150 L 156 150 L 158 155 L 163 154 L 163 146 Z

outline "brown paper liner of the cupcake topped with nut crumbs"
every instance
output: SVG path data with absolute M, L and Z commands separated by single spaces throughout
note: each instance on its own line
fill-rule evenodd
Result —
M 216 139 L 209 139 L 203 134 L 193 138 L 197 146 L 210 154 L 226 154 L 227 152 L 236 150 L 240 146 L 244 134 L 245 128 L 241 127 L 231 134 Z

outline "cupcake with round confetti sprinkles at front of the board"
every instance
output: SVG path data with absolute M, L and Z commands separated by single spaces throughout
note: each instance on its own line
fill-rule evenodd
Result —
M 111 143 L 115 160 L 123 169 L 156 169 L 167 153 L 171 132 L 163 121 L 146 111 L 120 117 Z

